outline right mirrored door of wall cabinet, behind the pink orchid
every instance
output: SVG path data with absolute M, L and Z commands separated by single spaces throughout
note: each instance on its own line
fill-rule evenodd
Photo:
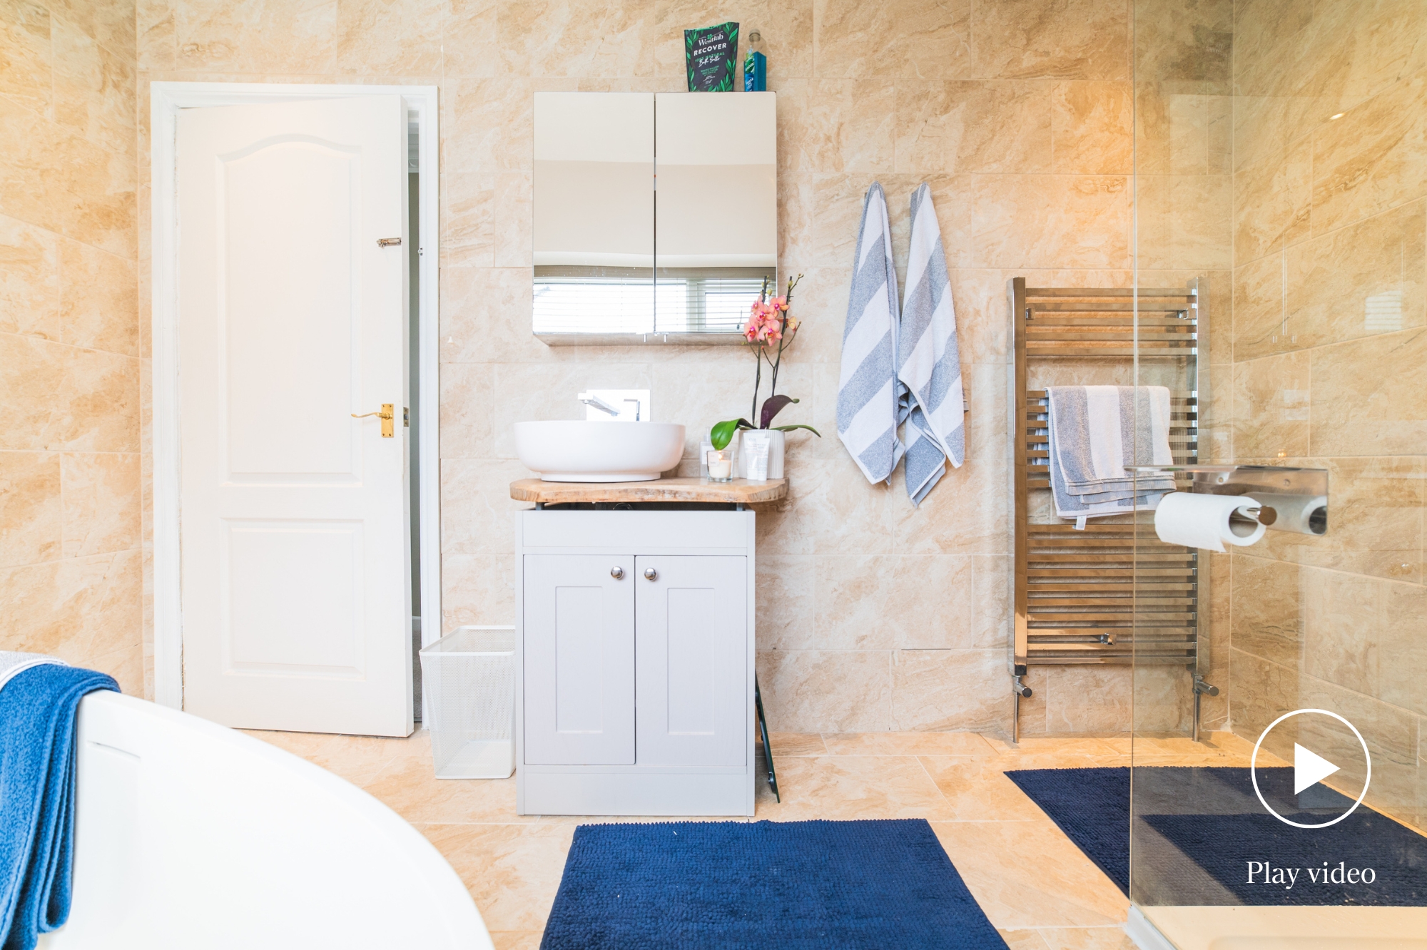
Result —
M 778 285 L 773 93 L 655 96 L 655 332 L 731 334 Z

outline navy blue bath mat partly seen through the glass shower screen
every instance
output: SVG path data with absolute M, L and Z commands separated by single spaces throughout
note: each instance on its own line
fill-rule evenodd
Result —
M 1129 772 L 1029 769 L 1006 775 L 1129 893 Z M 1290 800 L 1291 785 L 1293 769 L 1259 769 L 1259 786 L 1270 802 Z M 1297 829 L 1264 810 L 1249 769 L 1227 767 L 1136 769 L 1134 797 L 1134 899 L 1142 903 L 1427 903 L 1427 837 L 1367 806 L 1331 827 Z M 1316 824 L 1347 805 L 1340 800 L 1319 810 L 1280 812 Z M 1354 869 L 1356 876 L 1350 874 Z M 1363 869 L 1371 869 L 1371 880 L 1361 880 Z

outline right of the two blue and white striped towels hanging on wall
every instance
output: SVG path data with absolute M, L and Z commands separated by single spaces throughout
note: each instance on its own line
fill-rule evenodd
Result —
M 960 468 L 966 458 L 956 310 L 942 228 L 926 183 L 912 193 L 912 247 L 898 337 L 898 379 L 905 407 L 899 415 L 908 421 L 906 494 L 912 505 L 920 505 L 946 472 L 946 462 Z

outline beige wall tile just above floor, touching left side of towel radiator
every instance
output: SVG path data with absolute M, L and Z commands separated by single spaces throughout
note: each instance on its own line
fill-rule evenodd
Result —
M 892 729 L 1009 732 L 1006 652 L 902 649 L 892 655 Z

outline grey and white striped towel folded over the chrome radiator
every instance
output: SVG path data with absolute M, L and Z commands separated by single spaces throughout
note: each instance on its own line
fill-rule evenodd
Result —
M 1153 509 L 1173 475 L 1127 466 L 1173 465 L 1164 387 L 1050 387 L 1049 471 L 1056 514 L 1095 518 Z

